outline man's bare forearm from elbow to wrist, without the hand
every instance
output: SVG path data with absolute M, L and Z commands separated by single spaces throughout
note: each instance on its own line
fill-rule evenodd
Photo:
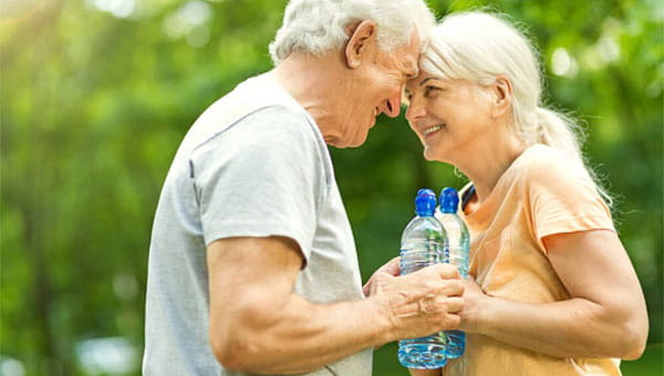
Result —
M 388 342 L 390 321 L 375 300 L 312 304 L 292 294 L 271 317 L 256 312 L 235 327 L 226 354 L 218 354 L 229 369 L 251 373 L 310 372 Z M 245 312 L 240 314 L 249 314 Z M 261 317 L 262 316 L 262 317 Z

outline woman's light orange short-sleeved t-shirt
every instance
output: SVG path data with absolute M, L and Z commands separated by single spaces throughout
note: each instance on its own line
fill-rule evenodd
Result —
M 483 291 L 530 303 L 570 299 L 549 263 L 542 238 L 614 230 L 609 208 L 585 169 L 539 144 L 512 163 L 481 206 L 463 215 L 471 237 L 469 273 Z M 466 335 L 465 355 L 444 369 L 445 375 L 473 376 L 621 375 L 619 359 L 558 358 L 473 333 Z

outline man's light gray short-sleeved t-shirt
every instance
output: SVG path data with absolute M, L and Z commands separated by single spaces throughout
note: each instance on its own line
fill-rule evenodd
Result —
M 206 247 L 268 236 L 300 246 L 307 263 L 295 292 L 304 299 L 363 299 L 325 143 L 304 108 L 263 74 L 196 121 L 166 177 L 149 249 L 145 375 L 240 375 L 224 370 L 210 349 Z M 371 366 L 366 349 L 308 375 L 371 375 Z

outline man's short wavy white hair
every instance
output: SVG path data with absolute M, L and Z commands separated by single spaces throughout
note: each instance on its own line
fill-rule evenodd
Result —
M 413 30 L 425 41 L 435 18 L 423 0 L 290 0 L 283 25 L 270 43 L 274 65 L 293 52 L 319 56 L 349 39 L 346 27 L 364 20 L 377 25 L 384 51 L 406 45 Z

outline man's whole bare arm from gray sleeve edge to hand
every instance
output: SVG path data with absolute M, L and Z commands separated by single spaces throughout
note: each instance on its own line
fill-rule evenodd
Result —
M 454 267 L 405 276 L 378 272 L 366 300 L 313 304 L 293 293 L 301 264 L 288 238 L 229 238 L 208 247 L 210 343 L 226 368 L 309 372 L 460 322 L 463 283 Z

